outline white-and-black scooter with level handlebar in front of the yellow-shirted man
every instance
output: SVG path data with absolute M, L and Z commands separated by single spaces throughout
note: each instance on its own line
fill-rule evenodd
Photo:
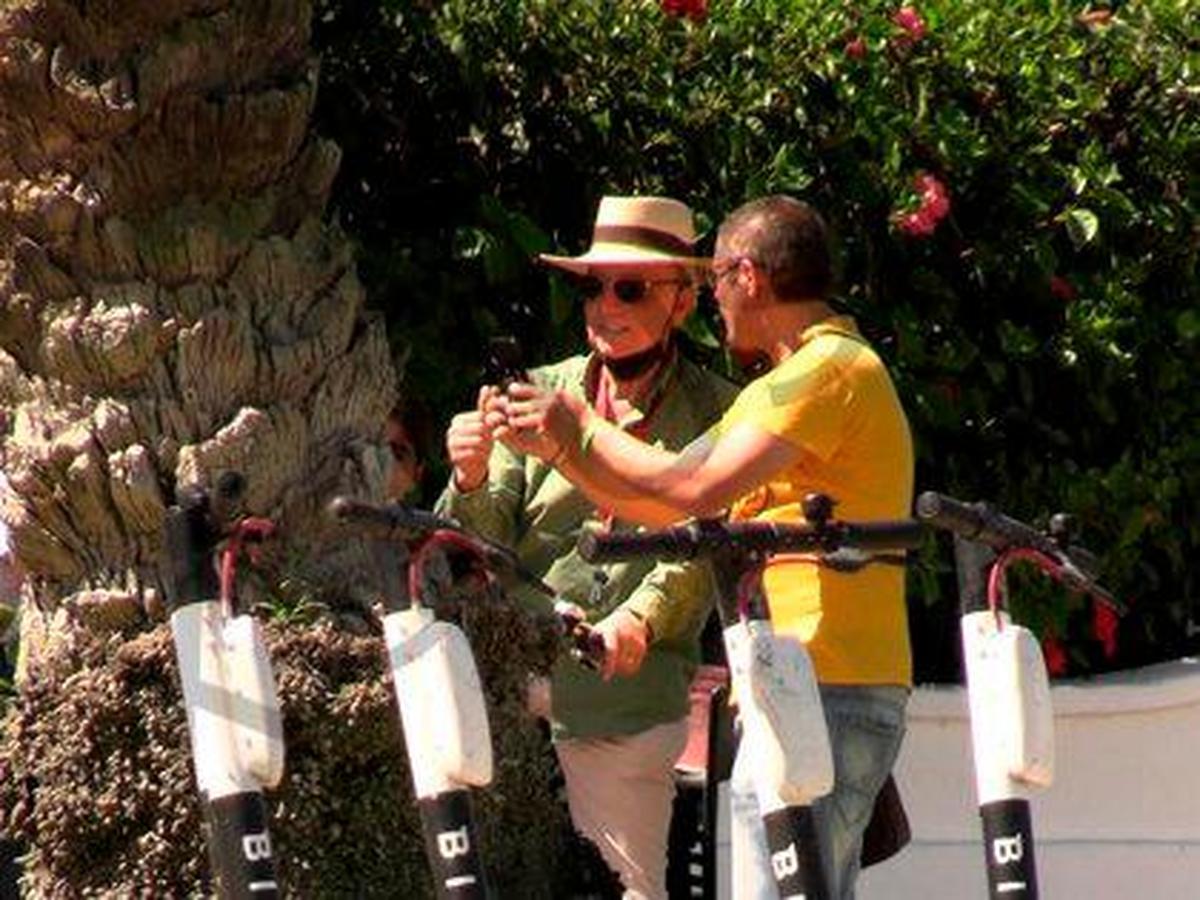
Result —
M 590 533 L 584 559 L 616 562 L 708 557 L 718 580 L 718 613 L 770 850 L 772 875 L 786 900 L 828 900 L 812 804 L 833 788 L 833 754 L 812 662 L 794 638 L 774 634 L 762 570 L 775 553 L 812 553 L 818 564 L 854 571 L 872 563 L 904 565 L 920 546 L 914 521 L 840 522 L 833 502 L 804 498 L 804 524 L 696 520 L 655 532 Z

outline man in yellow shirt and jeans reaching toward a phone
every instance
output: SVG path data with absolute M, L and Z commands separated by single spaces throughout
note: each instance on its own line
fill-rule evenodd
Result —
M 908 422 L 887 370 L 854 322 L 828 301 L 824 222 L 790 197 L 745 204 L 721 224 L 712 281 L 731 353 L 769 371 L 680 454 L 608 426 L 563 392 L 514 386 L 497 398 L 497 436 L 552 462 L 626 518 L 667 524 L 731 518 L 800 521 L 820 491 L 847 520 L 902 518 L 912 504 Z M 912 679 L 904 572 L 846 574 L 803 556 L 764 574 L 772 620 L 812 655 L 834 751 L 834 790 L 817 804 L 830 896 L 854 895 L 863 830 L 895 761 Z M 641 664 L 636 641 L 612 648 L 616 671 Z M 766 835 L 750 773 L 732 779 L 734 896 L 770 898 Z

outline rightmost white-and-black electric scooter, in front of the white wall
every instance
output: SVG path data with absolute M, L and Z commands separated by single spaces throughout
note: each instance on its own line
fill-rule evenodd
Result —
M 1030 798 L 1054 781 L 1054 710 L 1037 638 L 1002 608 L 1004 569 L 1032 562 L 1118 614 L 1124 608 L 1097 582 L 1096 557 L 1070 544 L 1066 516 L 1054 516 L 1045 533 L 930 491 L 917 498 L 917 517 L 954 534 L 989 896 L 1037 900 Z

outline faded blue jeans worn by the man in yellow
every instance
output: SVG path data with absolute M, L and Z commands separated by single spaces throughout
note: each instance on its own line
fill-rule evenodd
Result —
M 833 748 L 834 788 L 816 802 L 814 814 L 829 896 L 853 900 L 863 832 L 900 751 L 908 689 L 822 684 L 821 703 Z M 738 754 L 730 778 L 733 900 L 779 900 L 749 768 Z

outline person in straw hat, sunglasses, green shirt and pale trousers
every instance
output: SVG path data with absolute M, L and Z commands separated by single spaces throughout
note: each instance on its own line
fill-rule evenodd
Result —
M 695 256 L 695 240 L 691 210 L 678 200 L 605 197 L 586 253 L 540 257 L 582 296 L 590 353 L 535 370 L 532 379 L 671 450 L 714 424 L 736 390 L 682 358 L 674 341 L 708 265 Z M 514 547 L 602 635 L 604 670 L 559 660 L 542 712 L 576 828 L 619 875 L 626 896 L 666 898 L 673 767 L 686 740 L 688 686 L 712 608 L 710 575 L 700 564 L 623 563 L 607 566 L 598 588 L 595 568 L 576 551 L 580 532 L 629 526 L 550 463 L 494 443 L 482 410 L 496 394 L 494 386 L 480 389 L 476 409 L 451 421 L 452 475 L 438 509 Z

